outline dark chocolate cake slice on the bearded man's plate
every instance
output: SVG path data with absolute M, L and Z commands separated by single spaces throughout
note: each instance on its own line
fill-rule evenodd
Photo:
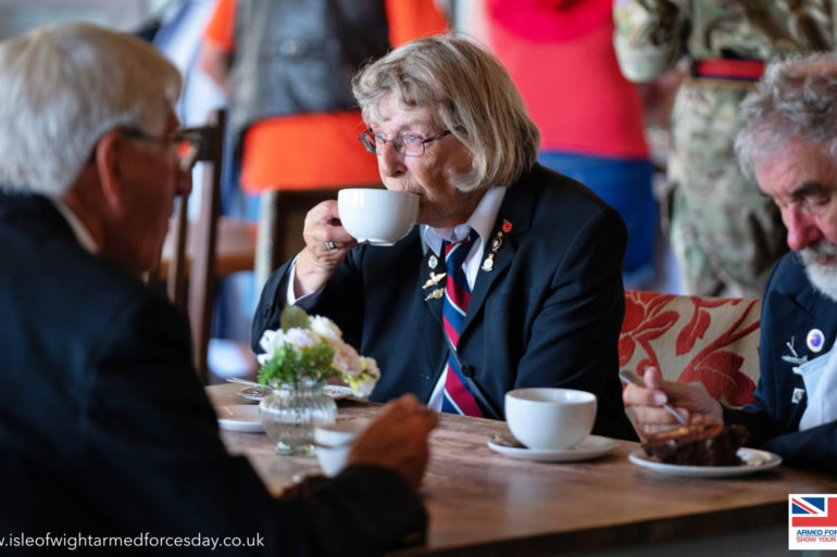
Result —
M 721 421 L 690 423 L 653 433 L 642 441 L 642 448 L 660 461 L 684 466 L 737 466 L 736 452 L 747 441 L 741 426 Z

